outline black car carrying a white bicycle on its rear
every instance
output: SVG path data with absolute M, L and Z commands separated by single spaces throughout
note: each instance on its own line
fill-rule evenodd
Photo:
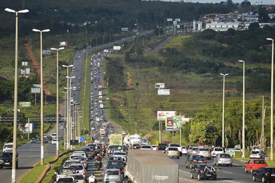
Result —
M 212 178 L 213 180 L 217 180 L 218 172 L 218 169 L 211 164 L 197 164 L 190 171 L 190 178 L 197 178 L 198 180 Z

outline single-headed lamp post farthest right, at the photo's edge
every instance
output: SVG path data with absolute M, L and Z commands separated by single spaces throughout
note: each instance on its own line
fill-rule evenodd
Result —
M 272 55 L 271 55 L 271 101 L 270 101 L 270 160 L 273 160 L 273 77 L 274 77 L 274 39 L 266 38 L 272 41 Z

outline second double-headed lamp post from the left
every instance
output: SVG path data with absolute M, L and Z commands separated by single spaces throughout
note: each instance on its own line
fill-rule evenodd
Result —
M 42 55 L 42 32 L 49 32 L 50 29 L 32 29 L 34 32 L 40 32 L 40 120 L 41 120 L 41 165 L 44 164 L 44 123 L 43 123 L 43 55 Z

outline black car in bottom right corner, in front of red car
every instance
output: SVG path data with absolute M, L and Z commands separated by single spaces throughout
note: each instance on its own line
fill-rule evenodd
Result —
M 252 174 L 252 180 L 262 182 L 275 181 L 275 167 L 261 167 Z

